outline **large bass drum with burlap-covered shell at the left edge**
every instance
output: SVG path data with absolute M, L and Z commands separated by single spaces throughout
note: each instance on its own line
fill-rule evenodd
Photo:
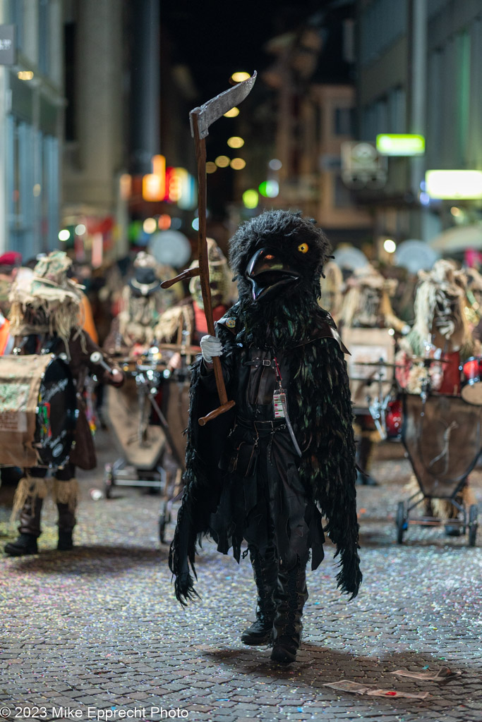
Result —
M 0 466 L 66 463 L 77 417 L 68 365 L 54 355 L 0 357 Z

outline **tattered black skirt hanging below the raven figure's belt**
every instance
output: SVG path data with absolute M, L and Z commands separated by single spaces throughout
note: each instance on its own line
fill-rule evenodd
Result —
M 322 562 L 322 516 L 298 474 L 298 456 L 283 422 L 237 419 L 221 466 L 226 470 L 210 533 L 218 551 L 239 561 L 241 544 L 274 546 L 283 565 Z

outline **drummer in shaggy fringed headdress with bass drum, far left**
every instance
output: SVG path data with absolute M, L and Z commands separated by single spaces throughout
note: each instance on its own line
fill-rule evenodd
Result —
M 10 301 L 11 331 L 15 336 L 14 353 L 21 355 L 52 353 L 64 355 L 76 384 L 77 425 L 74 434 L 74 448 L 69 461 L 53 474 L 53 499 L 59 511 L 58 549 L 72 549 L 72 532 L 75 526 L 78 485 L 75 467 L 94 469 L 95 448 L 87 419 L 85 417 L 82 390 L 87 372 L 103 378 L 106 383 L 120 386 L 124 376 L 119 369 L 111 366 L 106 371 L 101 365 L 90 361 L 92 352 L 100 349 L 79 323 L 81 308 L 80 289 L 76 282 L 67 277 L 72 261 L 63 251 L 53 251 L 40 258 L 30 282 L 22 277 L 14 284 Z M 20 536 L 5 546 L 10 556 L 36 554 L 37 539 L 40 536 L 40 515 L 43 499 L 46 497 L 47 469 L 36 466 L 24 469 L 14 497 L 14 516 L 20 511 Z

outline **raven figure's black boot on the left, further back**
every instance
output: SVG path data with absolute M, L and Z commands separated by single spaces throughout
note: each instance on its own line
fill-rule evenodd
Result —
M 249 557 L 253 565 L 254 581 L 258 588 L 256 621 L 244 630 L 241 642 L 248 645 L 267 644 L 272 634 L 275 617 L 273 592 L 277 583 L 277 554 L 274 547 L 267 549 L 264 556 L 256 547 L 249 547 Z

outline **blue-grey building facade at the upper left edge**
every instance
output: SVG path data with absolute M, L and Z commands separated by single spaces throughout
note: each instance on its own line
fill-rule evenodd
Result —
M 13 39 L 11 62 L 0 65 L 0 251 L 26 259 L 57 245 L 61 0 L 1 0 L 0 25 Z

